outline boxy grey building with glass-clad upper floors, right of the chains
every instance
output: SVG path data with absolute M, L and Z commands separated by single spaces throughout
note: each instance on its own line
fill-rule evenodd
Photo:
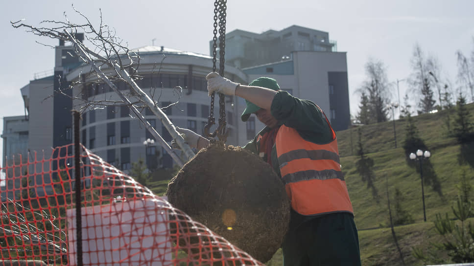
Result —
M 241 68 L 249 81 L 275 78 L 282 89 L 315 102 L 338 131 L 349 127 L 350 108 L 346 53 L 335 50 L 329 33 L 296 25 L 261 34 L 238 29 L 226 34 L 226 63 Z M 243 101 L 237 105 L 242 106 Z M 262 127 L 252 116 L 248 137 Z

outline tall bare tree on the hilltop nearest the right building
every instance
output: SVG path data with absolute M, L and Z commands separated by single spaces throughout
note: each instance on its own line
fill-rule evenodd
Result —
M 368 107 L 371 113 L 371 122 L 387 121 L 387 103 L 390 101 L 390 84 L 387 78 L 386 67 L 380 60 L 369 59 L 365 64 L 366 80 L 358 89 L 368 97 Z

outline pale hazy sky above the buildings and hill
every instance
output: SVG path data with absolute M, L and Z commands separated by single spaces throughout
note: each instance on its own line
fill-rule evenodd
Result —
M 71 4 L 98 21 L 117 30 L 117 35 L 136 48 L 164 45 L 169 48 L 209 54 L 213 36 L 213 0 L 81 0 L 3 1 L 0 8 L 0 117 L 22 115 L 20 88 L 37 72 L 54 67 L 53 49 L 36 42 L 57 45 L 40 38 L 10 21 L 25 19 L 38 25 L 42 20 L 64 20 L 66 12 L 79 23 Z M 227 32 L 241 29 L 256 33 L 291 25 L 329 32 L 337 50 L 347 52 L 351 112 L 356 114 L 355 90 L 364 80 L 364 64 L 369 57 L 381 60 L 390 81 L 406 78 L 415 43 L 436 56 L 451 81 L 456 78 L 456 50 L 469 54 L 474 49 L 473 0 L 229 0 Z M 396 87 L 394 87 L 396 89 Z M 407 88 L 400 83 L 403 99 Z M 397 92 L 393 91 L 394 101 Z M 0 121 L 0 132 L 3 121 Z M 0 141 L 0 151 L 1 148 Z

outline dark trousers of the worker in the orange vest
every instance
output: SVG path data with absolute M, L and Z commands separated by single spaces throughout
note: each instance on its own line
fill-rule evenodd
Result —
M 360 266 L 359 238 L 351 213 L 303 216 L 291 210 L 284 266 Z

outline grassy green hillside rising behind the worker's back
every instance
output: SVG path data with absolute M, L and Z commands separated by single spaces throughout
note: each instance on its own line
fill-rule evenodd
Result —
M 474 104 L 468 105 L 468 109 L 471 121 L 474 122 Z M 431 176 L 424 176 L 427 222 L 423 222 L 420 174 L 415 167 L 407 163 L 407 155 L 401 148 L 405 138 L 406 121 L 395 121 L 397 148 L 392 121 L 360 127 L 364 149 L 374 160 L 374 184 L 379 201 L 373 198 L 371 189 L 367 188 L 356 173 L 357 128 L 337 132 L 342 170 L 359 229 L 362 265 L 402 265 L 388 226 L 387 182 L 391 200 L 395 188 L 400 189 L 404 197 L 402 206 L 415 219 L 413 224 L 395 227 L 406 265 L 423 265 L 411 255 L 412 247 L 426 249 L 430 241 L 439 238 L 433 225 L 435 215 L 449 213 L 450 217 L 453 217 L 451 205 L 457 197 L 456 185 L 463 171 L 474 185 L 474 144 L 460 146 L 454 138 L 447 135 L 445 120 L 448 114 L 453 121 L 454 110 L 413 117 L 419 136 L 431 152 L 429 161 L 424 161 L 424 170 L 430 168 L 433 173 Z M 459 164 L 461 154 L 467 156 L 467 162 L 462 165 Z M 151 186 L 156 193 L 162 195 L 166 190 L 166 180 L 157 181 Z M 440 254 L 440 257 L 446 258 L 448 262 L 446 254 Z M 282 265 L 281 250 L 268 265 Z

